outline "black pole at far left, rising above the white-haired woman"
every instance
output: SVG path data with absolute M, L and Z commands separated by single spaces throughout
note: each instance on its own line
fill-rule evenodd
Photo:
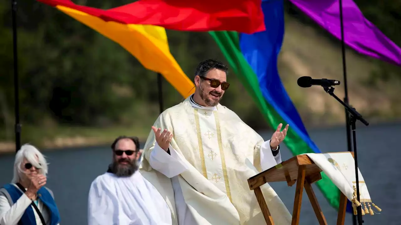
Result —
M 13 40 L 13 53 L 14 53 L 14 114 L 15 114 L 15 151 L 21 147 L 21 125 L 20 125 L 20 105 L 19 105 L 19 90 L 18 90 L 18 57 L 17 57 L 17 2 L 11 0 L 12 11 L 12 40 Z

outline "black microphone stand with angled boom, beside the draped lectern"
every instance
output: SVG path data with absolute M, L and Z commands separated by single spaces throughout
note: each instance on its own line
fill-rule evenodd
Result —
M 340 102 L 345 108 L 346 110 L 350 113 L 350 123 L 351 123 L 351 129 L 352 129 L 352 142 L 354 143 L 354 159 L 355 159 L 355 178 L 356 178 L 356 198 L 358 199 L 358 201 L 360 202 L 360 197 L 359 197 L 359 180 L 358 180 L 358 154 L 356 152 L 356 121 L 360 121 L 363 124 L 365 124 L 366 126 L 369 125 L 369 123 L 362 118 L 362 115 L 359 114 L 359 112 L 357 112 L 355 110 L 355 108 L 352 108 L 350 106 L 348 106 L 347 104 L 345 104 L 340 98 L 338 98 L 335 94 L 334 94 L 334 87 L 332 86 L 323 86 L 324 91 L 326 91 L 328 94 L 330 94 L 331 96 L 333 96 L 338 102 Z M 357 217 L 358 217 L 358 225 L 362 225 L 362 223 L 364 222 L 362 220 L 362 205 L 358 206 L 356 208 L 357 213 Z

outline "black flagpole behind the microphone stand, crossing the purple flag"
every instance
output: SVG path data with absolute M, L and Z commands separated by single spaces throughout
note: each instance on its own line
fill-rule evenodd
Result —
M 348 87 L 347 87 L 347 68 L 346 68 L 346 61 L 345 61 L 345 44 L 344 44 L 344 22 L 342 17 L 342 0 L 339 0 L 340 3 L 340 24 L 341 24 L 341 52 L 342 52 L 342 73 L 344 76 L 344 102 L 348 104 Z M 348 111 L 345 108 L 345 123 L 346 123 L 346 134 L 347 134 L 347 144 L 348 144 L 348 151 L 351 152 L 351 131 L 350 131 L 350 121 L 349 121 Z M 352 224 L 356 225 L 356 215 L 352 214 Z

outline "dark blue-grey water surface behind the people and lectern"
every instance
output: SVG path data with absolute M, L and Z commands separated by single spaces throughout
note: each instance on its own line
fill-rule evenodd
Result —
M 291 129 L 291 128 L 290 128 Z M 271 133 L 261 133 L 266 140 Z M 322 152 L 347 151 L 344 127 L 310 131 L 310 136 Z M 382 212 L 364 216 L 364 225 L 401 224 L 401 124 L 357 127 L 358 167 L 368 185 L 373 202 Z M 111 140 L 112 141 L 112 140 Z M 143 143 L 142 143 L 143 144 Z M 292 153 L 282 146 L 282 160 Z M 47 187 L 53 190 L 61 213 L 62 225 L 87 224 L 87 195 L 93 179 L 107 170 L 111 162 L 109 147 L 87 147 L 43 151 L 50 163 Z M 14 154 L 0 155 L 0 185 L 12 179 Z M 285 182 L 271 183 L 292 213 L 295 186 Z M 327 223 L 336 224 L 337 211 L 330 207 L 316 185 L 313 185 Z M 347 215 L 345 224 L 352 224 Z M 318 224 L 308 196 L 304 192 L 300 224 Z

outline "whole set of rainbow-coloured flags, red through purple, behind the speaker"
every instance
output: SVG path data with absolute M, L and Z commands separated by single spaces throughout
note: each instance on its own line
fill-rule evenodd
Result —
M 284 36 L 283 0 L 139 0 L 109 10 L 71 0 L 38 1 L 117 42 L 145 68 L 163 74 L 184 97 L 193 93 L 194 84 L 171 55 L 165 28 L 209 31 L 270 127 L 290 124 L 284 143 L 293 155 L 320 153 L 277 71 Z M 338 0 L 290 1 L 339 38 Z M 401 49 L 367 21 L 352 0 L 343 2 L 345 43 L 361 54 L 400 65 Z M 317 186 L 338 209 L 340 191 L 324 173 Z M 347 211 L 352 213 L 349 201 Z

